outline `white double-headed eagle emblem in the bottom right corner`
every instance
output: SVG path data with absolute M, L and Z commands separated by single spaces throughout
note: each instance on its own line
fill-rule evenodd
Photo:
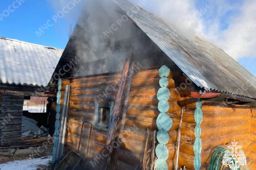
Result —
M 237 145 L 237 142 L 231 142 L 232 146 L 228 146 L 228 150 L 224 152 L 222 165 L 230 168 L 230 170 L 238 170 L 241 166 L 246 165 L 246 157 L 242 146 Z

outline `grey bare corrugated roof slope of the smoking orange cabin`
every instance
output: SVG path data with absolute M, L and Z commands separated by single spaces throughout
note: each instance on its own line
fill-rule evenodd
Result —
M 223 50 L 199 38 L 187 40 L 162 19 L 127 0 L 113 1 L 197 86 L 256 98 L 256 77 Z

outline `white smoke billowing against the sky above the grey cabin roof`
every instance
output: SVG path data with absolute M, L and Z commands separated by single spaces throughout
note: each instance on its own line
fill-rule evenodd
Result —
M 130 0 L 137 4 L 137 0 Z M 206 39 L 234 59 L 256 57 L 256 1 L 147 0 L 143 8 L 187 39 Z

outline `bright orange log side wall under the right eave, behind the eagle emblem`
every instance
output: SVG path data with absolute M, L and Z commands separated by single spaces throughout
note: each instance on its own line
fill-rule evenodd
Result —
M 188 102 L 189 103 L 189 102 Z M 183 114 L 181 128 L 181 146 L 179 165 L 194 170 L 194 142 L 196 139 L 195 104 L 188 104 Z M 223 105 L 220 102 L 202 102 L 203 121 L 201 126 L 202 150 L 201 168 L 206 170 L 209 156 L 216 146 L 228 146 L 234 139 L 242 146 L 247 158 L 251 161 L 250 118 L 251 107 L 240 105 Z M 251 122 L 253 120 L 251 119 Z

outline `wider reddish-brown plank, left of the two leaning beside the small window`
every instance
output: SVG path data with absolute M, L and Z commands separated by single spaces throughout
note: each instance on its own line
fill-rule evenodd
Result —
M 118 91 L 117 91 L 117 95 L 116 95 L 116 101 L 115 101 L 115 104 L 114 104 L 112 119 L 111 119 L 111 123 L 110 123 L 110 126 L 109 126 L 108 134 L 107 134 L 107 137 L 106 137 L 106 142 L 105 142 L 105 145 L 104 145 L 104 149 L 102 151 L 102 152 L 104 152 L 105 155 L 108 155 L 108 156 L 109 156 L 110 151 L 109 151 L 109 149 L 107 149 L 107 147 L 111 146 L 111 142 L 112 142 L 113 137 L 114 137 L 115 128 L 116 128 L 116 125 L 117 125 L 117 119 L 118 119 L 118 116 L 120 114 L 122 101 L 123 101 L 123 98 L 124 98 L 124 89 L 125 89 L 125 83 L 126 83 L 126 79 L 127 79 L 127 76 L 128 76 L 129 68 L 130 68 L 130 59 L 128 59 L 125 62 L 125 65 L 124 65 L 124 68 L 123 68 L 123 71 L 122 71 L 121 81 L 120 81 L 120 85 L 118 87 Z M 100 170 L 105 170 L 106 169 L 108 156 L 104 157 L 103 160 L 101 161 Z

